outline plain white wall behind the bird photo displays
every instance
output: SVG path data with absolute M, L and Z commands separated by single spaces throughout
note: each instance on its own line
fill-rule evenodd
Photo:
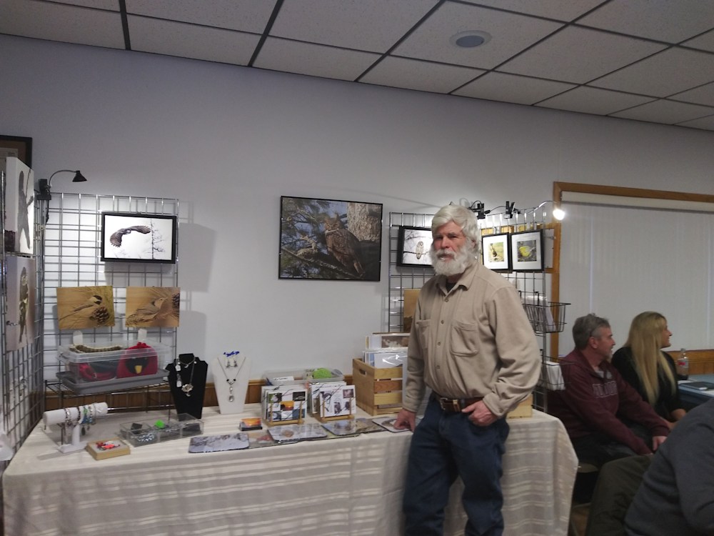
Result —
M 553 181 L 714 194 L 714 133 L 352 84 L 136 52 L 0 36 L 0 132 L 33 138 L 58 192 L 183 202 L 178 345 L 240 349 L 264 369 L 351 372 L 383 329 L 381 282 L 279 280 L 281 195 L 433 212 Z M 563 297 L 565 299 L 565 297 Z M 605 314 L 602 312 L 601 314 Z

